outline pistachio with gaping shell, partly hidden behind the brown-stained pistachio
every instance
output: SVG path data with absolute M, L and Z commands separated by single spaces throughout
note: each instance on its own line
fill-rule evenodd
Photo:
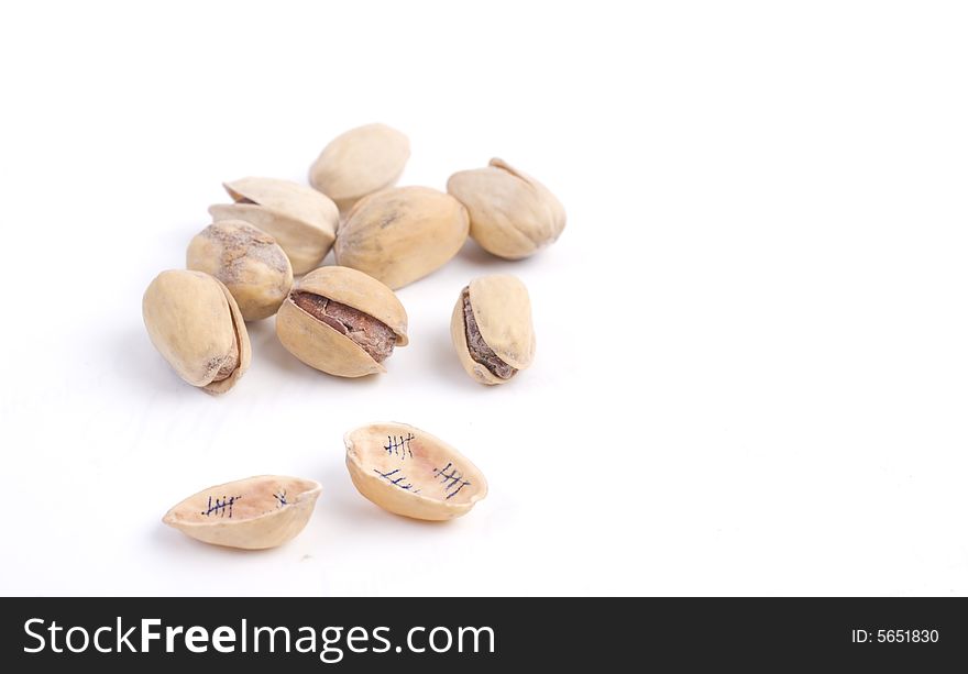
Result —
M 210 207 L 212 220 L 244 220 L 261 229 L 285 251 L 294 274 L 316 268 L 332 248 L 340 212 L 326 195 L 275 178 L 242 178 L 224 188 L 234 203 Z

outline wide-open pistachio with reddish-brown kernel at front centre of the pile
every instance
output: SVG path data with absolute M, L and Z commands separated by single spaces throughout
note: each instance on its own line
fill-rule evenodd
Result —
M 407 345 L 407 312 L 393 290 L 356 269 L 320 267 L 302 277 L 276 316 L 276 334 L 294 356 L 340 377 L 386 372 L 394 346 Z

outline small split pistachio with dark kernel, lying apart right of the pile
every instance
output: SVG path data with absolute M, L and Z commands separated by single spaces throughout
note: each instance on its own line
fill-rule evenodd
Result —
M 450 334 L 464 369 L 481 384 L 504 384 L 535 358 L 528 289 L 507 274 L 472 280 L 458 298 Z

